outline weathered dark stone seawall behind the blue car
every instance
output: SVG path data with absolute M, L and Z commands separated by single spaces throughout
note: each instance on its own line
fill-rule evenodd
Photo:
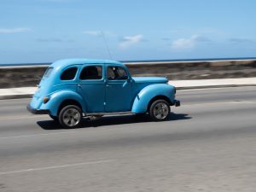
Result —
M 256 77 L 256 60 L 131 62 L 125 65 L 133 76 L 166 76 L 172 80 Z M 34 87 L 46 67 L 0 67 L 0 89 Z

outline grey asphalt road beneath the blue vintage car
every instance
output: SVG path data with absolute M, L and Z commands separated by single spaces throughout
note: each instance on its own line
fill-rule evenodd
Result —
M 0 191 L 252 191 L 256 87 L 178 90 L 166 122 L 131 115 L 65 130 L 0 101 Z

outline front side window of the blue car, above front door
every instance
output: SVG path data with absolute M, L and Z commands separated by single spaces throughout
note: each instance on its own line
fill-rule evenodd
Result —
M 108 80 L 128 79 L 127 73 L 123 67 L 108 67 Z

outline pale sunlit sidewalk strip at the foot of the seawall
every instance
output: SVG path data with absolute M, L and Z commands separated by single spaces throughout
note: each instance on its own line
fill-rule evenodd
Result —
M 171 80 L 169 84 L 177 87 L 179 90 L 184 89 L 201 89 L 213 87 L 233 87 L 233 86 L 255 86 L 256 78 L 243 79 L 199 79 L 199 80 Z M 0 99 L 15 99 L 31 97 L 36 87 L 20 87 L 0 89 Z

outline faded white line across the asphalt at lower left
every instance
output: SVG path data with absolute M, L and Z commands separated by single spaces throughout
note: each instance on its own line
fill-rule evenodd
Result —
M 86 166 L 86 165 L 92 165 L 92 164 L 109 163 L 113 161 L 114 160 L 96 160 L 96 161 L 87 161 L 83 163 L 66 164 L 62 166 L 45 166 L 45 167 L 23 169 L 23 170 L 16 170 L 16 171 L 10 171 L 10 172 L 0 172 L 0 175 L 8 175 L 8 174 L 15 174 L 15 173 L 23 173 L 23 172 L 38 172 L 38 171 L 45 171 L 45 170 L 51 170 L 51 169 L 68 168 L 73 166 Z

